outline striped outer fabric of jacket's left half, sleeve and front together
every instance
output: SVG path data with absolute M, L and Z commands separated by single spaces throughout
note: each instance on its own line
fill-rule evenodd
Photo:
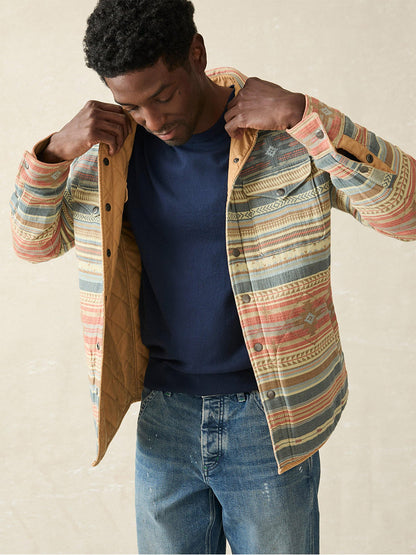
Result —
M 45 141 L 37 145 L 42 150 Z M 81 319 L 88 358 L 90 395 L 98 427 L 103 338 L 103 264 L 98 191 L 98 145 L 72 164 L 22 161 L 11 199 L 18 226 L 17 254 L 43 262 L 75 246 L 78 259 Z

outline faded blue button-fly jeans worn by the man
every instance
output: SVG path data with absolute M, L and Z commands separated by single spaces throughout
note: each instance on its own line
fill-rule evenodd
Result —
M 318 553 L 319 454 L 277 473 L 258 392 L 145 390 L 137 428 L 139 553 Z

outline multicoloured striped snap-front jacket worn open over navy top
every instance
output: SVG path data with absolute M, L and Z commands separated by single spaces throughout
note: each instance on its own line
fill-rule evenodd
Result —
M 221 85 L 244 76 L 209 73 Z M 139 321 L 140 253 L 123 207 L 134 131 L 108 156 L 72 163 L 26 152 L 11 200 L 14 247 L 32 262 L 75 246 L 91 397 L 104 456 L 140 400 L 148 352 Z M 230 147 L 226 247 L 243 335 L 279 472 L 321 447 L 347 400 L 330 283 L 330 209 L 416 239 L 416 162 L 346 116 L 306 97 L 288 131 L 247 130 Z

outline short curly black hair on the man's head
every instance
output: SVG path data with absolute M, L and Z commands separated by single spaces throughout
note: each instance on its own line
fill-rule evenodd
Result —
M 154 65 L 185 65 L 196 33 L 188 0 L 99 0 L 87 21 L 86 64 L 101 79 Z

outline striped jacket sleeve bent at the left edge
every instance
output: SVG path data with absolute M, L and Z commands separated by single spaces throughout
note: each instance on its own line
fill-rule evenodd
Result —
M 74 245 L 70 162 L 45 164 L 37 159 L 48 139 L 26 152 L 10 200 L 13 246 L 20 258 L 43 262 Z

